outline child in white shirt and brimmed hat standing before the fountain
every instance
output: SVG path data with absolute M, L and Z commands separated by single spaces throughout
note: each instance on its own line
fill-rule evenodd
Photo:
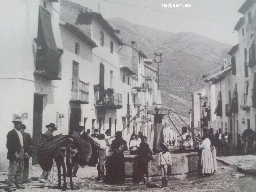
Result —
M 168 182 L 167 168 L 172 166 L 172 157 L 164 143 L 160 143 L 160 147 L 162 151 L 158 156 L 158 169 L 162 172 L 162 187 L 166 187 Z

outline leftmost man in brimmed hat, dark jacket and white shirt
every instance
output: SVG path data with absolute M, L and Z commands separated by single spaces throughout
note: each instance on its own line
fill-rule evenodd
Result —
M 7 159 L 10 161 L 7 191 L 15 191 L 17 188 L 24 189 L 21 185 L 23 181 L 23 157 L 24 145 L 23 136 L 20 132 L 21 117 L 15 117 L 12 121 L 14 129 L 7 134 L 6 147 L 8 149 Z

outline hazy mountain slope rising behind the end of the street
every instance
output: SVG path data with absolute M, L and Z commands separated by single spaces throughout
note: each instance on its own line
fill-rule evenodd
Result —
M 148 57 L 154 58 L 154 48 L 162 50 L 159 64 L 160 89 L 164 105 L 176 110 L 188 120 L 192 107 L 191 93 L 204 87 L 203 74 L 219 68 L 224 58 L 229 60 L 232 45 L 224 44 L 191 32 L 171 33 L 134 25 L 123 18 L 108 19 L 118 36 L 126 42 L 135 41 Z M 157 68 L 157 64 L 152 64 Z M 180 126 L 181 123 L 178 119 Z

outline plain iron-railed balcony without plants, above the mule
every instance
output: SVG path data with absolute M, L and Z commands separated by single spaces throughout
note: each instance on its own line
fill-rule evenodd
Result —
M 79 104 L 89 103 L 89 84 L 79 79 L 72 79 L 71 102 Z

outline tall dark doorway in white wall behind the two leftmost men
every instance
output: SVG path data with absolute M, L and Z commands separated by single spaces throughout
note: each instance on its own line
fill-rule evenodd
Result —
M 43 96 L 34 94 L 34 109 L 33 109 L 33 139 L 35 145 L 33 151 L 37 152 L 37 146 L 41 142 L 42 120 L 43 120 Z M 32 164 L 38 164 L 37 158 L 32 158 Z

